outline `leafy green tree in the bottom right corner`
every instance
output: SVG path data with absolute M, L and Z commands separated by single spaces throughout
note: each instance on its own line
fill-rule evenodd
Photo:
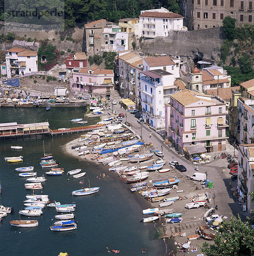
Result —
M 254 229 L 248 222 L 231 216 L 227 223 L 222 221 L 214 244 L 204 242 L 201 246 L 207 256 L 251 256 L 254 255 Z

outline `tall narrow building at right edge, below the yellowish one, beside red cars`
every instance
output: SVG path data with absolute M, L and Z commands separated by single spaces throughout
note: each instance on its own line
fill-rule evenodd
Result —
M 239 201 L 246 206 L 248 213 L 254 209 L 251 196 L 248 192 L 254 191 L 254 144 L 240 144 L 238 150 L 237 191 L 240 195 Z

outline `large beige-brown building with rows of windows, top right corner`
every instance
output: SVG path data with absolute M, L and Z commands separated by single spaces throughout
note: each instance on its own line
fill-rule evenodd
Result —
M 254 23 L 254 0 L 180 0 L 181 14 L 188 30 L 222 26 L 226 16 L 236 19 L 236 25 Z

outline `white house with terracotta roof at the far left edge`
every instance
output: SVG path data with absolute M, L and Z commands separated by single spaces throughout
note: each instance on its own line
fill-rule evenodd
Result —
M 6 54 L 7 78 L 14 76 L 30 76 L 38 72 L 37 52 L 28 49 L 14 47 Z

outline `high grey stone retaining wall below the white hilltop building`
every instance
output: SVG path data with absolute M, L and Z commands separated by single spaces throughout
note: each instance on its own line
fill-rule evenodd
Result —
M 143 39 L 145 53 L 179 55 L 220 60 L 220 48 L 225 39 L 222 27 L 194 31 L 171 31 L 167 37 Z

